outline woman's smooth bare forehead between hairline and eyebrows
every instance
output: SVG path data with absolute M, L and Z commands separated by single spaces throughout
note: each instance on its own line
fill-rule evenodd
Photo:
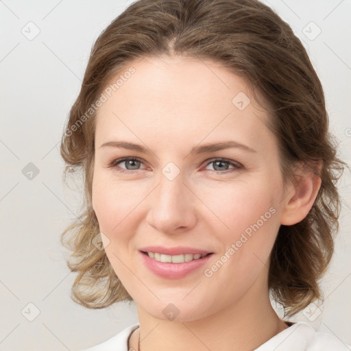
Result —
M 235 138 L 259 146 L 258 139 L 272 138 L 265 126 L 269 116 L 245 80 L 219 62 L 145 57 L 128 62 L 106 88 L 118 79 L 97 112 L 97 143 L 129 136 L 138 143 Z

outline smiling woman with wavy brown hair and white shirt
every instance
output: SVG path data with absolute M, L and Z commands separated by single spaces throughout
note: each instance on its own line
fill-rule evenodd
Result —
M 343 162 L 306 51 L 266 5 L 130 5 L 93 47 L 61 154 L 85 175 L 62 234 L 73 298 L 138 311 L 88 350 L 345 350 L 270 302 L 288 318 L 322 299 Z

